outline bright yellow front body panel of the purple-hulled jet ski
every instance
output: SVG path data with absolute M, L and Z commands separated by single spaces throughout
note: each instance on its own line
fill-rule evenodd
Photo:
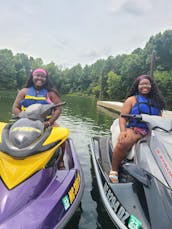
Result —
M 0 131 L 2 131 L 2 129 L 3 128 L 1 128 Z M 57 148 L 67 139 L 68 135 L 68 129 L 54 127 L 52 129 L 52 133 L 43 145 L 48 145 L 58 140 L 61 141 L 51 149 L 24 159 L 16 159 L 0 151 L 0 176 L 8 189 L 14 188 L 35 172 L 45 168 L 47 162 L 50 160 Z

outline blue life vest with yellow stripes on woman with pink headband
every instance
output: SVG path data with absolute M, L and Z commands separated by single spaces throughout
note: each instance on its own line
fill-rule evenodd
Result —
M 45 88 L 36 90 L 34 87 L 29 87 L 25 98 L 20 102 L 21 110 L 24 111 L 27 107 L 36 103 L 49 104 L 47 93 L 48 91 Z

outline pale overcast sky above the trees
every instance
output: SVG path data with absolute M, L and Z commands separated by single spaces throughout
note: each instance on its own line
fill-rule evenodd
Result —
M 0 49 L 62 67 L 144 48 L 172 29 L 172 0 L 0 0 Z

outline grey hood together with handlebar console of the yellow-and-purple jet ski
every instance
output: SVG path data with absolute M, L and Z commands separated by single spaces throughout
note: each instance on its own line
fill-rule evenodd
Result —
M 12 122 L 3 128 L 0 151 L 12 157 L 25 158 L 55 146 L 62 139 L 54 134 L 53 138 L 44 144 L 53 127 L 44 128 L 43 122 L 49 118 L 47 116 L 56 107 L 64 104 L 65 102 L 47 105 L 33 104 L 14 116 Z

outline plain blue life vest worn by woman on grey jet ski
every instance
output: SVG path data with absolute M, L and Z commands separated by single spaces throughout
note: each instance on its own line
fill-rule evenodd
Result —
M 132 107 L 130 114 L 159 115 L 160 109 L 157 108 L 152 99 L 147 99 L 143 95 L 136 95 L 136 103 Z M 148 129 L 146 123 L 139 122 L 135 119 L 129 121 L 127 127 L 139 127 Z

